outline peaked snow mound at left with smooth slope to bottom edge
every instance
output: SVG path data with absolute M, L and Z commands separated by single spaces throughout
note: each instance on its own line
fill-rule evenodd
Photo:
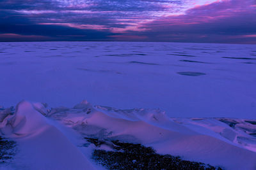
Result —
M 4 169 L 94 169 L 68 137 L 41 114 L 44 109 L 44 104 L 22 101 L 15 112 L 0 111 L 1 135 L 19 146 L 15 161 Z

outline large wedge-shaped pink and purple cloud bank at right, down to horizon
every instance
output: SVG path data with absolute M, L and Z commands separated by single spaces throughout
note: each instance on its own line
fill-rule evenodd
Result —
M 252 0 L 216 1 L 191 8 L 184 15 L 170 15 L 141 24 L 139 28 L 150 29 L 148 34 L 156 41 L 176 41 L 183 36 L 182 41 L 229 43 L 237 37 L 236 42 L 243 43 L 246 38 L 255 38 L 253 3 Z

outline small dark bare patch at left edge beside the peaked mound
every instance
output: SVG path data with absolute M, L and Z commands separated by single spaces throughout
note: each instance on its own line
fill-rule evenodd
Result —
M 13 150 L 15 146 L 15 141 L 2 138 L 0 136 L 0 164 L 4 164 L 12 160 L 15 155 L 15 150 Z

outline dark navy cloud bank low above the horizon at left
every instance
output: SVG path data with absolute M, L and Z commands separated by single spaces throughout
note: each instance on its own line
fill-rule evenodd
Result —
M 108 36 L 115 35 L 109 31 L 97 31 L 93 29 L 77 29 L 65 25 L 40 25 L 31 22 L 26 15 L 17 15 L 17 13 L 0 11 L 0 34 L 10 34 L 11 40 L 13 34 L 20 35 L 18 39 L 29 41 L 40 41 L 40 38 L 46 40 L 67 40 L 67 41 L 103 41 Z M 36 39 L 32 36 L 38 36 Z M 8 35 L 0 36 L 0 41 L 8 41 Z

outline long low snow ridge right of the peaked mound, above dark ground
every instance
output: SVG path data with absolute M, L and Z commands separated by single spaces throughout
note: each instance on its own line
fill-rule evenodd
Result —
M 161 110 L 93 107 L 87 101 L 77 106 L 48 117 L 72 127 L 85 138 L 142 143 L 157 153 L 179 155 L 225 169 L 256 167 L 255 145 L 251 141 L 255 137 L 230 127 L 220 118 L 169 118 Z

